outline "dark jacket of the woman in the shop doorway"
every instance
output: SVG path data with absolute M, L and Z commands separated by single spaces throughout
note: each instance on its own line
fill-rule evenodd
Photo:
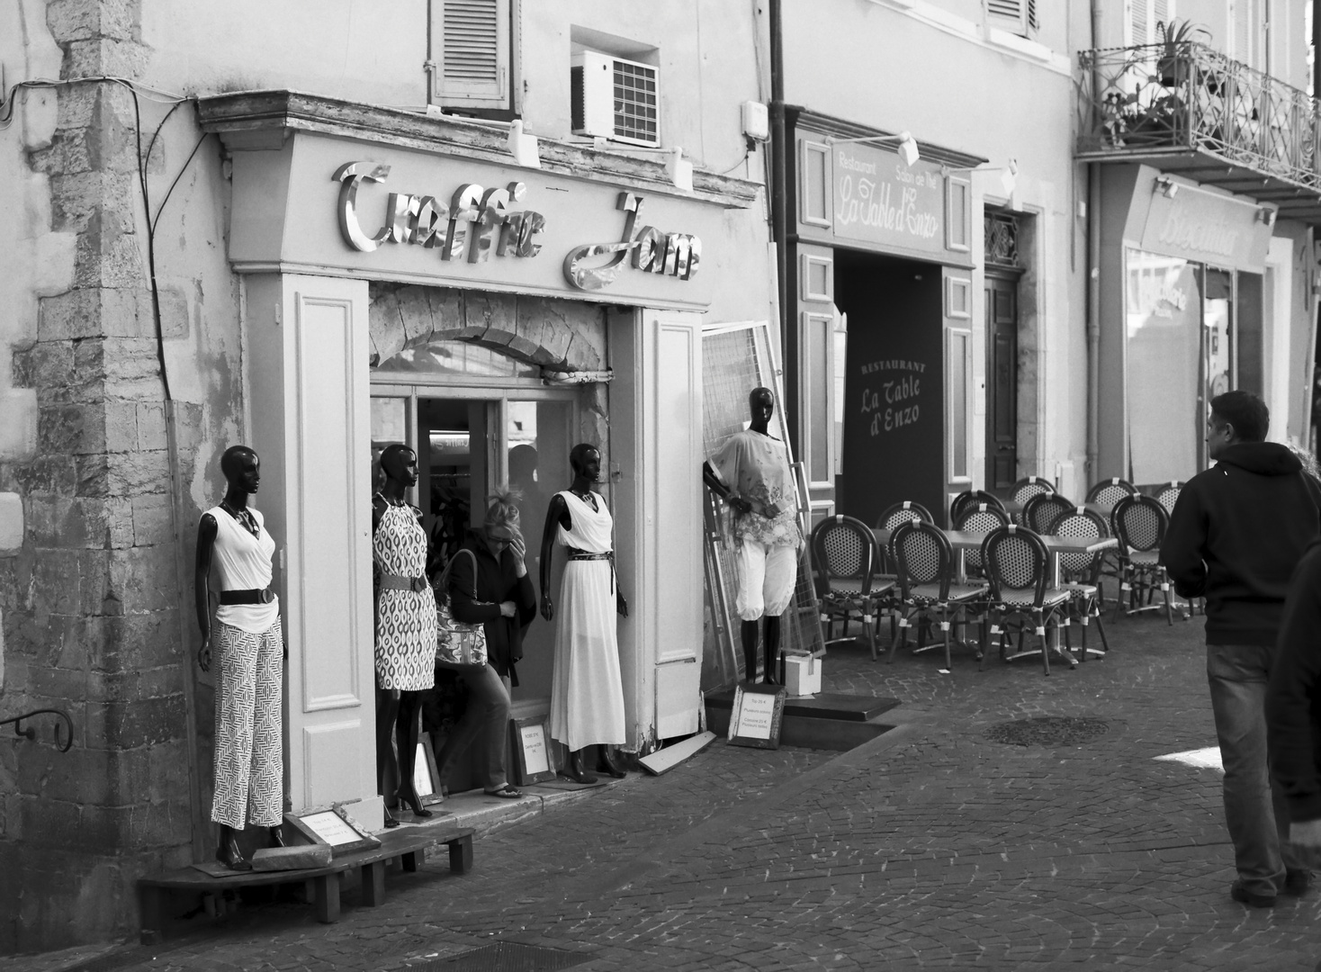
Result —
M 486 548 L 486 540 L 476 530 L 469 530 L 461 549 L 477 555 L 477 596 L 473 597 L 473 559 L 466 553 L 454 553 L 454 568 L 449 572 L 449 606 L 456 621 L 466 625 L 483 622 L 486 629 L 486 654 L 491 667 L 518 684 L 514 663 L 523 656 L 523 631 L 536 617 L 536 592 L 532 589 L 531 572 L 519 577 L 514 568 L 514 556 L 501 552 L 499 563 Z M 513 601 L 517 611 L 513 618 L 499 613 L 501 601 Z

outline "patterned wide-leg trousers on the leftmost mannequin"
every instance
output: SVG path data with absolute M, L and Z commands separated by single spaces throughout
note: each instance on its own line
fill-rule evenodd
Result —
M 262 634 L 217 623 L 215 798 L 211 820 L 242 831 L 284 814 L 284 638 L 276 618 Z M 246 817 L 246 821 L 244 821 Z

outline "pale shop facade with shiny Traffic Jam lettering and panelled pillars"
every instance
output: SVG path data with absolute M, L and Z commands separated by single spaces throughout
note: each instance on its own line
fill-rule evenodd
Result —
M 232 160 L 248 428 L 284 538 L 288 798 L 358 800 L 373 827 L 371 464 L 390 442 L 417 452 L 411 499 L 441 544 L 519 487 L 534 576 L 568 450 L 597 445 L 630 602 L 627 749 L 696 732 L 701 314 L 746 259 L 725 211 L 758 190 L 713 177 L 679 193 L 659 162 L 527 170 L 503 139 L 453 148 L 478 125 L 357 106 L 350 129 L 342 111 L 288 92 L 201 106 Z M 547 711 L 552 650 L 534 622 L 514 717 Z

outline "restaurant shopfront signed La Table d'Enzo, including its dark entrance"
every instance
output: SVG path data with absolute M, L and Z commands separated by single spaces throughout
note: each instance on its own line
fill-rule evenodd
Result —
M 971 172 L 985 160 L 793 118 L 786 341 L 791 425 L 814 516 L 939 515 L 974 485 Z M 979 227 L 980 231 L 980 227 Z

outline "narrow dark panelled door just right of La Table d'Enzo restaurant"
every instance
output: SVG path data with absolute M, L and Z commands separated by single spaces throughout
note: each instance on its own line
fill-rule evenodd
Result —
M 987 275 L 987 489 L 1018 478 L 1018 281 Z

